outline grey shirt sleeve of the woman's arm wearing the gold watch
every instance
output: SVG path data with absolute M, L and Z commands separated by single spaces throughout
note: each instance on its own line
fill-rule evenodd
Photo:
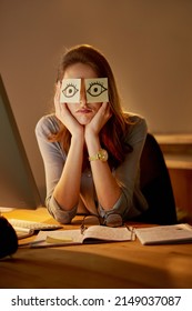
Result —
M 113 171 L 113 175 L 121 188 L 121 195 L 112 211 L 129 219 L 148 209 L 148 202 L 140 190 L 140 159 L 148 128 L 145 120 L 141 117 L 134 116 L 132 121 L 134 124 L 131 126 L 127 136 L 127 143 L 132 146 L 133 151 L 127 153 L 124 161 Z M 99 210 L 101 214 L 104 213 L 102 204 L 100 204 Z

